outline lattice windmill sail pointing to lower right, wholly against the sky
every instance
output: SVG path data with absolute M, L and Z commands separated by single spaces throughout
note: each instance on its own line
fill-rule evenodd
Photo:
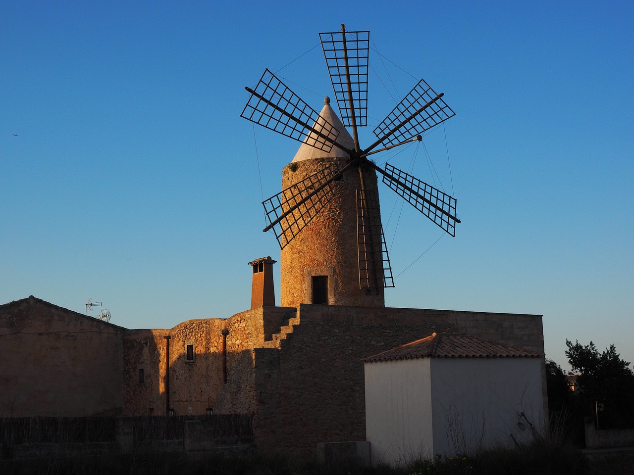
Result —
M 378 168 L 378 167 L 377 167 Z M 378 168 L 383 182 L 402 196 L 405 201 L 436 223 L 441 229 L 455 236 L 456 199 L 418 178 L 385 164 L 385 170 Z

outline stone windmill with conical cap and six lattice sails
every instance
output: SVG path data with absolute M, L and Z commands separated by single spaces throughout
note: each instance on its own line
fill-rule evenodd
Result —
M 393 287 L 378 205 L 377 173 L 420 213 L 455 236 L 456 200 L 389 163 L 368 156 L 422 140 L 421 134 L 455 113 L 421 79 L 359 145 L 367 125 L 369 31 L 320 33 L 341 119 L 325 98 L 320 113 L 268 69 L 241 117 L 302 143 L 283 170 L 282 191 L 262 202 L 281 248 L 281 305 L 339 303 L 384 307 Z M 346 127 L 351 127 L 350 136 Z

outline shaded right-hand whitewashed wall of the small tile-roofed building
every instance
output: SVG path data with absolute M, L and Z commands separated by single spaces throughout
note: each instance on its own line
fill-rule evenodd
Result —
M 434 453 L 465 453 L 479 444 L 513 444 L 542 429 L 540 358 L 425 358 L 431 360 Z

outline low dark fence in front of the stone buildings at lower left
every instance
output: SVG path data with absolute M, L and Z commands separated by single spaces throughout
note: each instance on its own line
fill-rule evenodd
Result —
M 109 430 L 84 433 L 51 427 L 89 427 L 90 417 L 0 419 L 2 459 L 85 457 L 110 453 L 221 452 L 238 455 L 253 450 L 252 415 L 220 414 L 186 417 L 99 418 Z M 110 430 L 111 429 L 111 430 Z

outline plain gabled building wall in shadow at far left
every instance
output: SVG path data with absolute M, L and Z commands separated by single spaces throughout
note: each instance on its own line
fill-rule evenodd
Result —
M 119 415 L 124 331 L 34 296 L 0 305 L 0 417 Z

